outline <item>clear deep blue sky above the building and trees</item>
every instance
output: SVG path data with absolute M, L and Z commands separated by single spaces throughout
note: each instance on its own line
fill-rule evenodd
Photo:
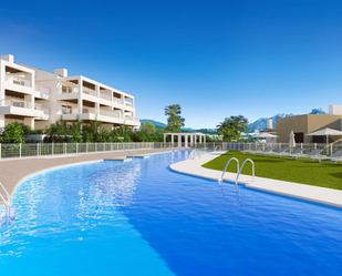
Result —
M 136 96 L 137 115 L 188 127 L 342 104 L 342 2 L 3 1 L 0 54 L 68 68 Z

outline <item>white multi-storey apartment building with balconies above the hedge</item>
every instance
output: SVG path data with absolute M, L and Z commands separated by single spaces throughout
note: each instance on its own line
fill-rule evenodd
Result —
M 46 72 L 0 57 L 0 127 L 11 122 L 41 130 L 58 121 L 99 121 L 138 127 L 134 96 L 66 69 Z

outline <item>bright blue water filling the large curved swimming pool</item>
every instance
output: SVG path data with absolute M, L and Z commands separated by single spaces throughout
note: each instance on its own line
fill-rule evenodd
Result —
M 341 275 L 341 211 L 168 170 L 187 154 L 25 181 L 0 275 Z

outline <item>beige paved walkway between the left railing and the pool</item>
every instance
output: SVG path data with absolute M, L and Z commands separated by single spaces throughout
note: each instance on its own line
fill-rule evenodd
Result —
M 13 193 L 18 183 L 24 177 L 48 168 L 68 164 L 100 161 L 104 159 L 124 160 L 127 155 L 142 155 L 164 152 L 165 150 L 134 150 L 102 153 L 84 153 L 75 155 L 55 155 L 32 159 L 13 159 L 0 161 L 0 182 L 10 194 Z

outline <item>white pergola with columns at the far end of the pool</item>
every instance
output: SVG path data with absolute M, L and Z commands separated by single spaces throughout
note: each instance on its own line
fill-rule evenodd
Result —
M 199 132 L 169 132 L 164 133 L 164 143 L 166 143 L 167 137 L 170 137 L 172 146 L 175 145 L 175 137 L 177 137 L 177 145 L 178 147 L 183 146 L 194 146 L 197 143 L 198 144 L 205 144 L 206 143 L 206 134 L 199 133 Z

